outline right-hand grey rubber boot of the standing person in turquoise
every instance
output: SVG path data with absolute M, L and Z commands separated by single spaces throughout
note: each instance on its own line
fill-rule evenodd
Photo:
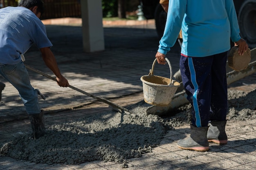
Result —
M 211 121 L 210 128 L 207 132 L 207 139 L 209 142 L 214 142 L 219 145 L 227 144 L 227 134 L 225 126 L 227 121 Z

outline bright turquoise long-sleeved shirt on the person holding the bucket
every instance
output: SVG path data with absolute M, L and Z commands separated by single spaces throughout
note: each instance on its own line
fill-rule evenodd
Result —
M 181 53 L 190 57 L 223 53 L 230 49 L 230 38 L 240 40 L 233 0 L 169 0 L 160 53 L 170 51 L 181 28 Z

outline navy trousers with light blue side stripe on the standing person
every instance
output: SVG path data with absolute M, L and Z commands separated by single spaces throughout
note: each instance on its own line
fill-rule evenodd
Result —
M 180 58 L 180 72 L 187 99 L 192 105 L 192 124 L 208 126 L 209 121 L 226 120 L 227 52 L 207 57 Z

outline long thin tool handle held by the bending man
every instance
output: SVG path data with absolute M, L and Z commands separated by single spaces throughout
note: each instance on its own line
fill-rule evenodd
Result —
M 52 80 L 54 80 L 55 82 L 57 82 L 56 78 L 54 78 L 54 77 L 52 77 L 52 76 L 50 76 L 50 75 L 47 75 L 47 74 L 43 73 L 42 71 L 39 71 L 39 70 L 37 70 L 36 68 L 33 68 L 33 67 L 28 66 L 28 65 L 26 65 L 26 64 L 25 64 L 25 66 L 26 66 L 27 69 L 29 69 L 29 70 L 31 70 L 31 71 L 34 71 L 34 72 L 36 72 L 36 73 L 39 73 L 40 75 L 43 75 L 43 76 L 45 76 L 45 77 L 47 77 L 47 78 L 49 78 L 49 79 L 52 79 Z M 85 91 L 82 91 L 81 89 L 76 88 L 76 87 L 71 86 L 71 85 L 69 85 L 68 87 L 69 87 L 69 88 L 72 88 L 72 89 L 75 90 L 75 91 L 78 91 L 78 92 L 80 92 L 80 93 L 83 93 L 83 94 L 85 94 L 85 95 L 88 95 L 88 96 L 90 96 L 90 97 L 92 97 L 92 98 L 94 98 L 94 99 L 97 99 L 97 100 L 99 100 L 100 102 L 104 102 L 104 103 L 106 103 L 106 104 L 112 106 L 113 108 L 118 108 L 118 109 L 120 109 L 122 112 L 123 112 L 123 111 L 126 111 L 126 112 L 130 113 L 130 111 L 129 111 L 128 109 L 126 109 L 126 108 L 124 108 L 124 107 L 122 107 L 122 106 L 119 106 L 119 105 L 117 105 L 117 104 L 115 104 L 115 103 L 109 101 L 108 99 L 105 99 L 105 98 L 103 98 L 103 97 L 97 97 L 97 96 L 95 96 L 95 95 L 92 95 L 92 94 L 90 94 L 90 93 L 87 93 L 87 92 L 85 92 Z

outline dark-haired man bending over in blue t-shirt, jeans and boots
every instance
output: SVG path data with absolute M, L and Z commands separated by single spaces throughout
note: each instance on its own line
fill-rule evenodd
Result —
M 50 50 L 52 43 L 39 19 L 42 13 L 41 0 L 21 0 L 18 7 L 0 9 L 0 74 L 18 90 L 29 115 L 35 139 L 45 134 L 43 110 L 38 103 L 40 92 L 30 84 L 23 64 L 23 54 L 35 44 L 42 53 L 46 66 L 56 75 L 57 84 L 61 87 L 69 86 Z

